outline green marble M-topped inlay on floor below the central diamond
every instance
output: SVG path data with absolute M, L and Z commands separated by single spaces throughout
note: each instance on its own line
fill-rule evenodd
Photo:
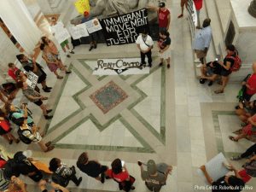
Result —
M 79 125 L 84 124 L 88 119 L 90 119 L 96 127 L 99 129 L 99 131 L 103 131 L 106 129 L 109 125 L 113 124 L 114 121 L 117 119 L 120 120 L 120 122 L 125 125 L 125 127 L 131 132 L 131 134 L 137 138 L 137 141 L 143 145 L 143 148 L 139 147 L 126 147 L 126 146 L 102 146 L 102 145 L 82 145 L 82 144 L 66 144 L 66 143 L 58 143 L 63 137 L 66 137 L 70 132 L 74 131 Z M 155 153 L 154 149 L 148 145 L 148 143 L 145 142 L 143 137 L 141 137 L 135 129 L 131 127 L 131 125 L 120 115 L 116 116 L 115 118 L 111 119 L 106 123 L 105 125 L 100 125 L 100 123 L 97 121 L 97 119 L 90 114 L 89 116 L 85 117 L 84 119 L 81 119 L 76 125 L 73 125 L 71 128 L 69 128 L 67 131 L 63 132 L 59 137 L 56 137 L 53 140 L 53 143 L 55 143 L 55 148 L 76 148 L 76 149 L 90 149 L 90 150 L 107 150 L 107 151 L 125 151 L 125 152 L 138 152 L 138 153 Z

